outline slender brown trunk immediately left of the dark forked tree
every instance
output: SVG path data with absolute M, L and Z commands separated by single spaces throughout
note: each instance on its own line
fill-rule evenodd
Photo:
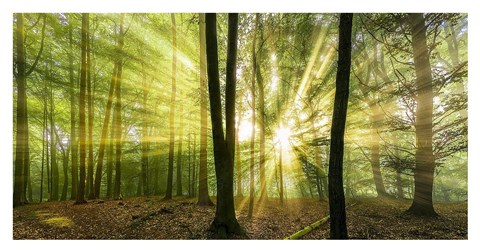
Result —
M 199 14 L 200 30 L 200 164 L 198 174 L 198 205 L 211 206 L 213 202 L 208 195 L 207 166 L 207 62 L 205 38 L 205 14 Z

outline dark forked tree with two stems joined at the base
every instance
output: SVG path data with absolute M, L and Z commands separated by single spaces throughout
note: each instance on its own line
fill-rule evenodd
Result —
M 225 90 L 226 136 L 223 135 L 222 102 L 218 73 L 217 17 L 205 15 L 208 90 L 212 121 L 215 174 L 217 177 L 217 207 L 211 229 L 220 237 L 243 233 L 235 217 L 233 200 L 233 163 L 235 151 L 235 85 L 237 60 L 238 14 L 228 14 L 228 47 Z

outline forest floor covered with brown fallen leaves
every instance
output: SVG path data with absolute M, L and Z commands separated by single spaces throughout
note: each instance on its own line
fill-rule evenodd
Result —
M 212 197 L 212 201 L 215 199 Z M 196 199 L 138 197 L 29 204 L 13 210 L 13 239 L 209 239 L 215 207 Z M 248 198 L 236 198 L 236 216 L 250 239 L 284 239 L 327 215 L 316 199 L 256 202 L 248 218 Z M 352 239 L 467 239 L 467 203 L 436 203 L 435 218 L 405 214 L 411 201 L 350 199 L 347 228 Z M 303 239 L 327 239 L 328 222 Z M 231 237 L 242 238 L 242 237 Z M 245 237 L 243 237 L 244 239 Z

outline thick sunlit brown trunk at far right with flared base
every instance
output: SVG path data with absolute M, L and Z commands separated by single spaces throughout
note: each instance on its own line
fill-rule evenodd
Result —
M 427 48 L 427 27 L 421 13 L 409 14 L 408 19 L 412 29 L 413 62 L 417 78 L 415 194 L 408 211 L 416 215 L 435 216 L 432 202 L 435 171 L 435 157 L 432 148 L 433 90 L 432 70 Z

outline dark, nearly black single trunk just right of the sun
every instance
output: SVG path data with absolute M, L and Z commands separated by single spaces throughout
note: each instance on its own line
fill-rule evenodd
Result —
M 330 140 L 328 195 L 330 208 L 330 238 L 347 239 L 345 196 L 343 192 L 343 148 L 347 119 L 350 65 L 352 51 L 353 14 L 340 14 L 338 35 L 338 67 Z

